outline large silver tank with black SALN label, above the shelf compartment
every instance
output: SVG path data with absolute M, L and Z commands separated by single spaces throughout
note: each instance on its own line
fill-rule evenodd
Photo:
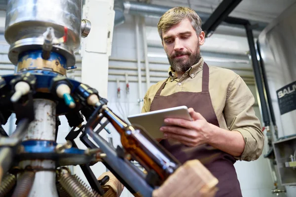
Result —
M 279 137 L 296 134 L 296 3 L 259 35 Z M 280 102 L 280 103 L 279 103 Z M 287 197 L 296 187 L 287 186 Z

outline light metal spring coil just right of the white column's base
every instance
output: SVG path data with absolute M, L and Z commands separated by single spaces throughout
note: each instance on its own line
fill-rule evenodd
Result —
M 64 174 L 60 177 L 59 182 L 71 197 L 101 197 L 97 192 L 92 192 L 76 175 Z

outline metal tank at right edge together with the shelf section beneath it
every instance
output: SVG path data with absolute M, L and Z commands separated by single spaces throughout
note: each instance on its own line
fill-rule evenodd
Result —
M 259 34 L 260 55 L 276 124 L 273 143 L 281 184 L 296 194 L 296 3 Z M 263 69 L 263 70 L 264 70 Z M 268 94 L 268 93 L 267 93 Z

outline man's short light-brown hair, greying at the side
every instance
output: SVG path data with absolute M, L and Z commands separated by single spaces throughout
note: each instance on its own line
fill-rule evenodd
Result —
M 180 23 L 183 19 L 189 19 L 196 34 L 201 33 L 201 19 L 197 13 L 189 7 L 173 7 L 165 12 L 159 19 L 157 29 L 162 40 L 162 33 L 167 32 L 174 25 Z

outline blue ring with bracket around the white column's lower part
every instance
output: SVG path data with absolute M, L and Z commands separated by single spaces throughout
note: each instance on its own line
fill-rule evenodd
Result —
M 57 143 L 45 140 L 29 140 L 22 142 L 24 152 L 17 155 L 19 160 L 53 160 L 57 166 L 88 164 L 96 161 L 94 155 L 85 154 L 85 150 L 78 148 L 65 149 L 63 153 L 57 153 Z

